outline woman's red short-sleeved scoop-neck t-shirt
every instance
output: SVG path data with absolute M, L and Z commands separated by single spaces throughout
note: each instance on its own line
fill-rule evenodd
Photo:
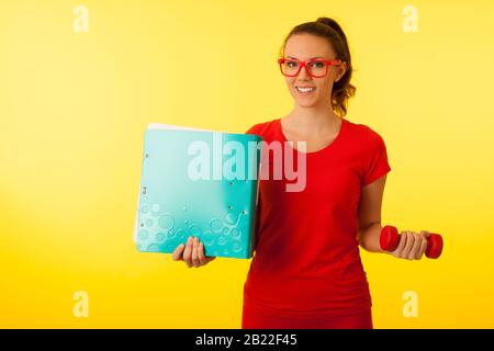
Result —
M 287 141 L 280 118 L 247 134 L 266 143 Z M 296 145 L 295 145 L 296 148 Z M 292 152 L 296 170 L 296 149 Z M 272 166 L 273 154 L 263 154 Z M 255 256 L 244 285 L 244 308 L 289 318 L 335 317 L 368 310 L 371 296 L 358 233 L 362 186 L 388 173 L 382 137 L 343 118 L 336 139 L 307 152 L 303 191 L 287 192 L 293 178 L 261 179 Z M 271 167 L 272 169 L 272 167 Z M 283 172 L 284 173 L 284 172 Z

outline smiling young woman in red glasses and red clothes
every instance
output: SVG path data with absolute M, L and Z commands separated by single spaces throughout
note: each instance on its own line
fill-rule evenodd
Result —
M 247 133 L 268 144 L 291 141 L 293 154 L 304 152 L 305 186 L 288 192 L 287 179 L 260 180 L 243 328 L 370 329 L 372 303 L 359 246 L 384 252 L 381 204 L 391 170 L 385 144 L 367 125 L 344 118 L 356 88 L 347 38 L 336 21 L 319 18 L 295 26 L 280 54 L 294 106 Z M 292 141 L 305 141 L 305 149 Z M 401 234 L 398 247 L 388 253 L 420 259 L 429 233 Z M 188 267 L 214 259 L 204 256 L 198 238 L 179 246 L 172 258 Z

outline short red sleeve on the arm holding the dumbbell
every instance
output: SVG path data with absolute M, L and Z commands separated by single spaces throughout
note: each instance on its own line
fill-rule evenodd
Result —
M 386 146 L 381 135 L 369 127 L 364 134 L 362 183 L 368 185 L 386 174 L 391 167 L 388 161 Z

